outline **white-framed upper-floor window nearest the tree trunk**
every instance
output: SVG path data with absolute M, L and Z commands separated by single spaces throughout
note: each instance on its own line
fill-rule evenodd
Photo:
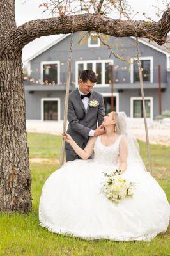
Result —
M 59 84 L 59 61 L 41 63 L 41 81 L 45 85 Z

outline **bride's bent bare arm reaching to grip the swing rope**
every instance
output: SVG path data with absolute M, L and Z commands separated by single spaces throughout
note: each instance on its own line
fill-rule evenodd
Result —
M 79 155 L 82 159 L 88 159 L 93 154 L 96 137 L 89 138 L 84 150 L 81 147 L 79 147 L 79 145 L 77 145 L 77 143 L 72 139 L 72 137 L 69 134 L 66 134 L 63 137 L 65 138 L 65 141 L 71 145 L 75 153 Z

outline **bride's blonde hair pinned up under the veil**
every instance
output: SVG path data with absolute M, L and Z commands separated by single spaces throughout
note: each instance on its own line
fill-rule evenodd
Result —
M 116 124 L 114 126 L 114 132 L 118 134 L 126 134 L 126 131 L 127 131 L 126 118 L 122 114 L 123 112 L 120 112 L 120 113 L 112 112 L 112 119 L 116 121 Z

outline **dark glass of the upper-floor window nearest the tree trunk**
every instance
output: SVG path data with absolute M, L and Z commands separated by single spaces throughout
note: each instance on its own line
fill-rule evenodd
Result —
M 43 82 L 45 84 L 58 83 L 58 64 L 43 65 Z

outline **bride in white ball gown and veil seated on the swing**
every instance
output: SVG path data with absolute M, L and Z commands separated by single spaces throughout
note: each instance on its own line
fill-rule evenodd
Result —
M 125 113 L 109 113 L 102 125 L 105 133 L 90 138 L 84 150 L 65 134 L 66 142 L 82 159 L 69 161 L 46 180 L 40 198 L 40 225 L 83 239 L 150 241 L 169 225 L 166 195 L 146 171 L 138 143 L 128 132 Z M 88 159 L 93 152 L 93 159 Z M 135 182 L 133 197 L 119 204 L 100 193 L 103 172 L 116 169 L 121 170 L 121 177 Z

